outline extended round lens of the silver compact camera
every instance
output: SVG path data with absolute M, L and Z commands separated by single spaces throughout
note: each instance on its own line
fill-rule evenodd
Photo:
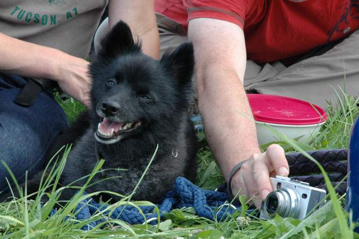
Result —
M 293 189 L 280 188 L 270 192 L 264 201 L 264 210 L 271 218 L 277 213 L 284 218 L 295 218 L 301 196 Z

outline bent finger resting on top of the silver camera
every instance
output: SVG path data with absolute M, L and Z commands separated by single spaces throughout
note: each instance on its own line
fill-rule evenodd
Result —
M 267 166 L 269 171 L 275 171 L 276 175 L 288 177 L 289 166 L 286 159 L 284 149 L 278 144 L 271 144 L 266 151 L 268 158 Z

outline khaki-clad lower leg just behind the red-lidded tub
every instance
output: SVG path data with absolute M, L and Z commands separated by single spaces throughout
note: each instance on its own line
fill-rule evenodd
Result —
M 273 94 L 307 100 L 326 107 L 334 103 L 340 88 L 359 96 L 359 31 L 326 53 L 295 63 L 265 82 L 251 85 L 262 94 Z

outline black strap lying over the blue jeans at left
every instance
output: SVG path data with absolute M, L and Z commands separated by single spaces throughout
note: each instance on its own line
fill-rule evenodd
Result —
M 14 102 L 18 105 L 29 106 L 35 101 L 43 89 L 49 89 L 55 86 L 56 82 L 53 80 L 29 78 L 24 88 L 14 99 Z

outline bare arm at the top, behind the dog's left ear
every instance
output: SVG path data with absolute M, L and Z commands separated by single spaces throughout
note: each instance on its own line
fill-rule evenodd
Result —
M 159 58 L 159 34 L 154 14 L 154 0 L 109 1 L 109 28 L 119 20 L 125 21 L 133 36 L 142 41 L 145 54 Z

